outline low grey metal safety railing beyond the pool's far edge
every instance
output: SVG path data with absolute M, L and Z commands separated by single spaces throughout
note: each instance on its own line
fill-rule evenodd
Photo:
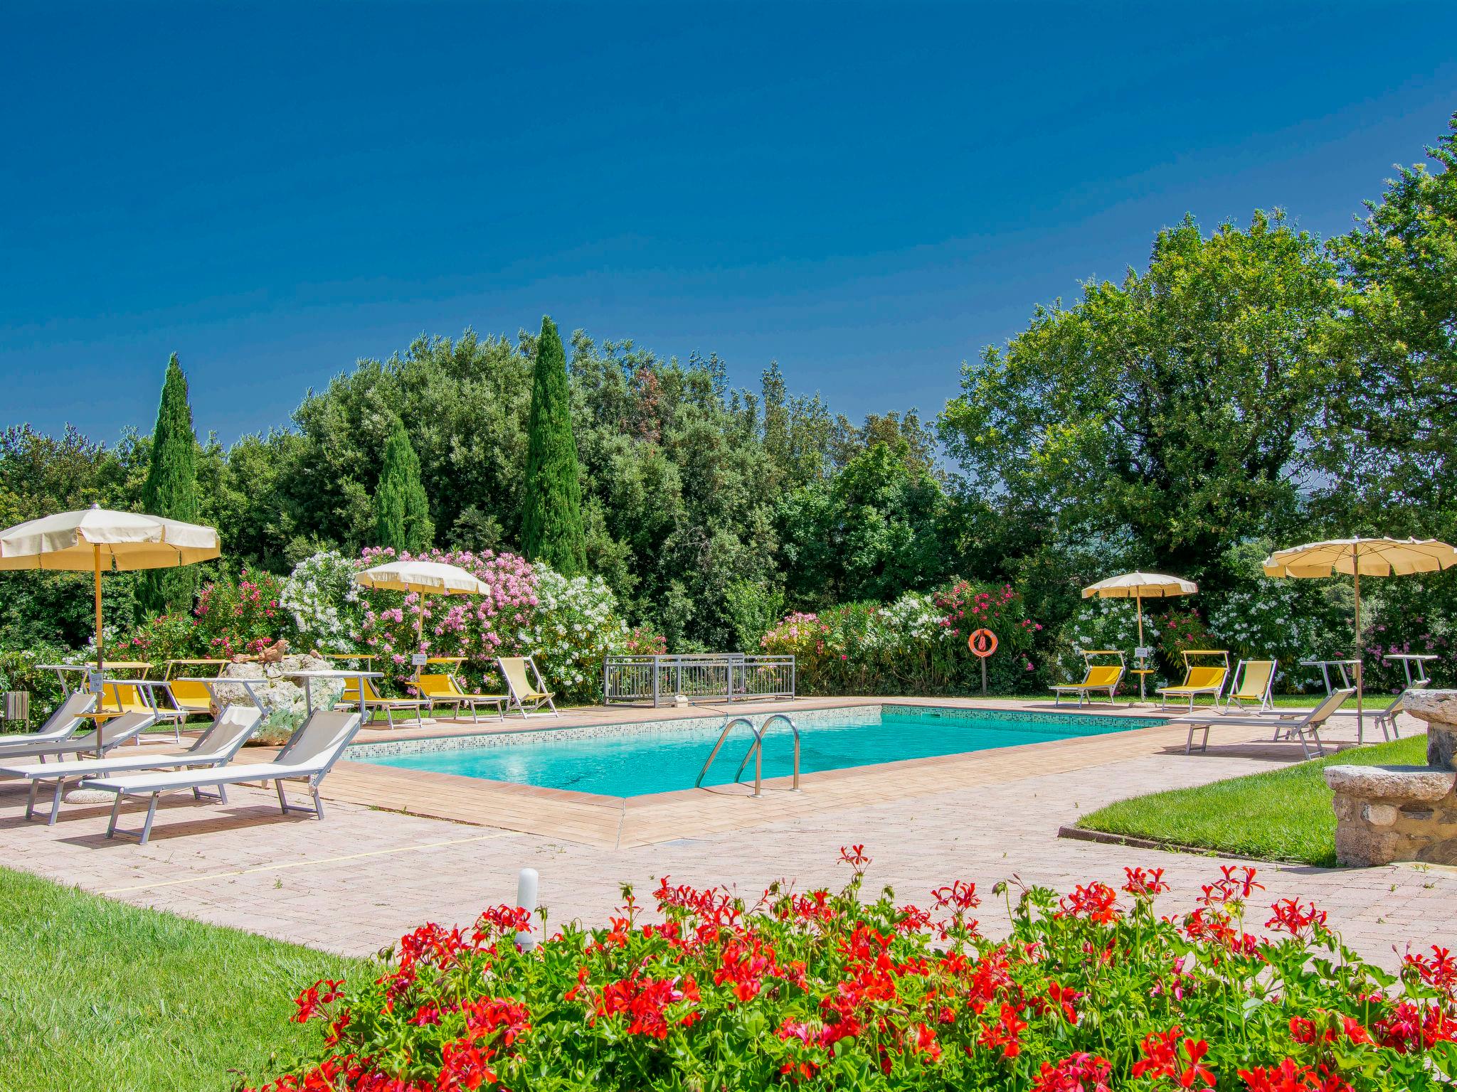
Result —
M 750 657 L 743 652 L 608 657 L 602 693 L 615 702 L 743 702 L 794 697 L 794 657 Z

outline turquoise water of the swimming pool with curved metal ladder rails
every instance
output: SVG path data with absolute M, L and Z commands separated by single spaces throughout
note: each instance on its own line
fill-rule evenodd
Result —
M 1002 709 L 864 705 L 793 713 L 800 729 L 800 772 L 844 770 L 903 759 L 965 754 L 1049 740 L 1106 735 L 1164 724 L 1157 716 L 1088 716 Z M 763 713 L 755 715 L 759 724 Z M 354 761 L 484 778 L 603 796 L 643 796 L 694 788 L 726 718 L 692 718 L 589 728 L 356 744 Z M 704 785 L 727 785 L 752 735 L 736 728 Z M 787 778 L 793 737 L 779 722 L 763 741 L 763 778 Z M 745 779 L 753 780 L 752 764 Z

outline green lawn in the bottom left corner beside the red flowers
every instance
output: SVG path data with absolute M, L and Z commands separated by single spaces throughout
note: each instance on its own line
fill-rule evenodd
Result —
M 313 1041 L 316 978 L 363 961 L 203 925 L 0 868 L 0 1088 L 230 1089 Z

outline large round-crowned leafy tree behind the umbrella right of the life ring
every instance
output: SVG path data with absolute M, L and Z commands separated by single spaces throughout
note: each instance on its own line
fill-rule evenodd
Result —
M 941 435 L 973 494 L 1214 585 L 1295 517 L 1338 322 L 1335 266 L 1276 214 L 1160 232 L 1147 272 L 1039 307 L 962 374 Z

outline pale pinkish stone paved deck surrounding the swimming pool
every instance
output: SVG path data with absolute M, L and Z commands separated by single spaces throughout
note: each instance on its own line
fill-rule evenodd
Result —
M 733 712 L 864 705 L 881 699 L 801 699 Z M 908 699 L 884 699 L 906 703 Z M 1048 709 L 1039 702 L 935 699 L 941 706 Z M 721 716 L 721 708 L 699 708 Z M 1085 712 L 1085 711 L 1084 711 Z M 1118 712 L 1147 713 L 1148 709 Z M 529 727 L 679 718 L 678 709 L 573 711 Z M 1330 732 L 1354 741 L 1355 719 Z M 436 724 L 366 731 L 360 740 L 500 729 Z M 504 725 L 520 729 L 520 721 Z M 1403 718 L 1403 734 L 1419 732 Z M 425 922 L 468 923 L 481 907 L 513 901 L 516 872 L 541 872 L 552 922 L 597 923 L 619 885 L 654 879 L 726 884 L 755 897 L 766 884 L 838 885 L 839 846 L 864 843 L 868 878 L 903 900 L 975 879 L 988 893 L 983 926 L 1005 913 L 991 885 L 1020 877 L 1068 890 L 1119 882 L 1125 865 L 1164 868 L 1167 911 L 1192 904 L 1217 872 L 1215 856 L 1164 853 L 1056 837 L 1078 814 L 1125 796 L 1271 769 L 1300 757 L 1256 732 L 1225 728 L 1209 754 L 1183 754 L 1174 725 L 1100 737 L 810 775 L 804 792 L 750 799 L 731 789 L 666 794 L 631 802 L 503 788 L 452 775 L 341 763 L 325 782 L 323 823 L 278 812 L 272 791 L 239 786 L 227 805 L 165 799 L 152 842 L 105 837 L 108 808 L 64 805 L 54 827 L 25 821 L 25 792 L 0 782 L 0 863 L 130 903 L 350 954 L 374 952 Z M 462 783 L 463 782 L 463 783 Z M 1319 869 L 1259 863 L 1260 906 L 1314 898 L 1346 941 L 1386 965 L 1406 945 L 1457 941 L 1457 869 Z

